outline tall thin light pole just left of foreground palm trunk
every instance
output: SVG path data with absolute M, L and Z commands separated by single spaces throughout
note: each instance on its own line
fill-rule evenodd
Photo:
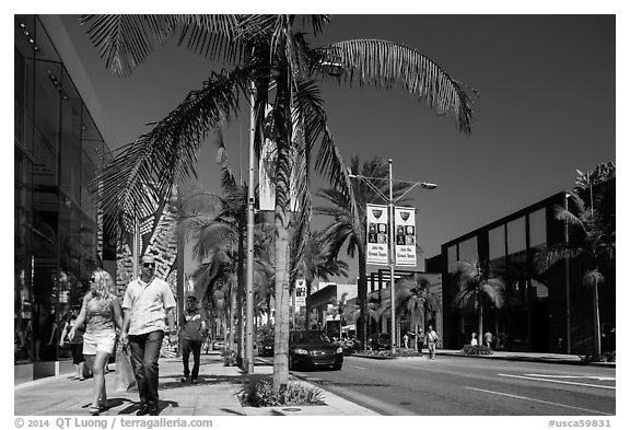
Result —
M 256 86 L 249 88 L 249 184 L 247 186 L 247 274 L 246 274 L 246 323 L 245 323 L 245 371 L 254 373 L 254 94 Z

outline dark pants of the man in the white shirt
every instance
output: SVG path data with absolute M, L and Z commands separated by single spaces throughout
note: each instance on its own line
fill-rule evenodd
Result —
M 131 365 L 140 393 L 140 407 L 158 410 L 158 359 L 164 332 L 155 330 L 142 335 L 129 335 Z

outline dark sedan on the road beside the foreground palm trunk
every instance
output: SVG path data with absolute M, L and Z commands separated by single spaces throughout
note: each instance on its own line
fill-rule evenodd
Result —
M 332 368 L 341 370 L 343 349 L 330 341 L 324 332 L 289 332 L 289 370 L 296 368 Z

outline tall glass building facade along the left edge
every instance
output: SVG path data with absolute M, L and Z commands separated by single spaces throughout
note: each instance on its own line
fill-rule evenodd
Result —
M 65 63 L 59 19 L 14 15 L 15 382 L 55 374 L 62 317 L 80 305 L 91 272 L 116 269 L 116 241 L 88 190 L 109 150 Z M 68 50 L 66 49 L 66 53 Z M 79 77 L 80 78 L 80 77 Z M 71 367 L 71 361 L 70 361 Z

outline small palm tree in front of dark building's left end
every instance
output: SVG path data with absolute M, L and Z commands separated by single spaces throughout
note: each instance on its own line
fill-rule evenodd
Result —
M 474 304 L 478 313 L 479 339 L 483 335 L 483 303 L 489 302 L 495 307 L 503 306 L 505 286 L 494 278 L 489 268 L 483 268 L 479 262 L 459 262 L 459 291 L 455 294 L 455 305 L 459 309 Z

